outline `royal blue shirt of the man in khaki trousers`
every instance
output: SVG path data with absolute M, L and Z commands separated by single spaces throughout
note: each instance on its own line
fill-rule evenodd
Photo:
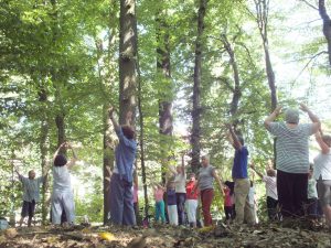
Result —
M 247 161 L 248 150 L 246 147 L 242 147 L 241 150 L 236 149 L 233 160 L 232 177 L 233 179 L 247 179 Z

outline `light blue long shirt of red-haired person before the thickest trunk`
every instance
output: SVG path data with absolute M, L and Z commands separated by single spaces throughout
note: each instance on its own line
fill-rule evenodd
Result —
M 124 136 L 121 128 L 116 130 L 119 143 L 115 150 L 116 166 L 120 179 L 132 182 L 132 166 L 136 158 L 137 142 Z

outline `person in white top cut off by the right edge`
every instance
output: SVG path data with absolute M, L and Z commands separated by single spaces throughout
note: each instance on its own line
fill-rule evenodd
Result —
M 322 205 L 325 220 L 331 227 L 331 136 L 316 134 L 321 153 L 313 159 L 314 170 L 313 177 L 317 180 L 318 196 Z

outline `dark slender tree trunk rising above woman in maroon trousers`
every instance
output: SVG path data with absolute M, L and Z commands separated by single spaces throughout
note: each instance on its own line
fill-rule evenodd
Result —
M 194 75 L 193 75 L 193 109 L 192 109 L 192 171 L 197 172 L 200 166 L 200 139 L 201 139 L 201 67 L 202 67 L 202 50 L 203 42 L 202 35 L 204 31 L 204 17 L 207 7 L 207 0 L 200 0 L 197 13 L 197 34 L 195 40 L 195 61 L 194 61 Z

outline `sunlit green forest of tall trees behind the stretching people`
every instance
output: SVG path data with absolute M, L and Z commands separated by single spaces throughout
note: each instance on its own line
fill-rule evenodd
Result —
M 88 216 L 107 223 L 108 169 L 118 142 L 109 107 L 119 123 L 132 112 L 140 218 L 153 206 L 150 185 L 164 182 L 183 151 L 188 171 L 197 172 L 201 155 L 209 154 L 222 180 L 231 180 L 228 123 L 245 137 L 249 160 L 261 171 L 274 158 L 274 139 L 263 122 L 276 106 L 305 103 L 330 131 L 328 10 L 329 0 L 0 0 L 0 217 L 20 216 L 22 185 L 14 169 L 41 175 L 70 141 L 78 158 L 72 172 L 77 222 Z M 302 115 L 301 121 L 309 119 Z M 310 144 L 313 158 L 313 139 Z M 263 223 L 264 184 L 253 171 L 249 176 Z M 52 173 L 42 185 L 38 224 L 50 223 L 51 191 Z M 222 204 L 217 193 L 212 207 L 217 219 Z M 316 247 L 316 237 L 298 231 L 311 242 L 289 246 Z M 193 246 L 194 238 L 186 237 L 163 247 L 216 247 Z M 249 244 L 238 247 L 266 247 Z

